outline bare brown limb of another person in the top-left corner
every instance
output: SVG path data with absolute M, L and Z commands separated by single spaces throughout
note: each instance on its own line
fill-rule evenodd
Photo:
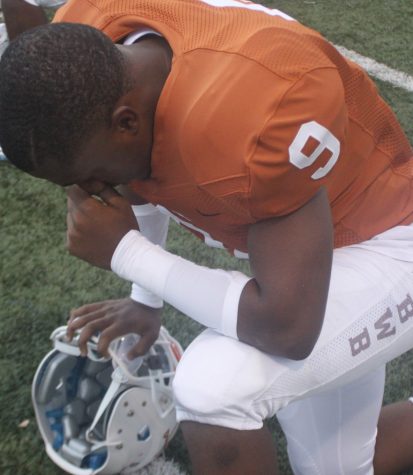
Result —
M 2 0 L 1 6 L 11 40 L 30 28 L 47 23 L 44 11 L 24 0 Z

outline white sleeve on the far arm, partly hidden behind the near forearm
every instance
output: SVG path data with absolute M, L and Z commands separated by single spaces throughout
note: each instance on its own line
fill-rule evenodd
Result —
M 165 247 L 168 235 L 169 216 L 161 213 L 156 206 L 148 203 L 145 205 L 132 206 L 132 210 L 139 224 L 140 232 L 149 241 Z M 143 303 L 149 307 L 162 308 L 163 300 L 153 292 L 146 290 L 133 282 L 131 299 Z

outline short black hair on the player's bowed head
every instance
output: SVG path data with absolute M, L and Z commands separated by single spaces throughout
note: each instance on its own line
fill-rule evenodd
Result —
M 0 61 L 0 145 L 31 172 L 47 160 L 65 169 L 109 124 L 126 90 L 122 55 L 99 30 L 49 24 L 12 41 Z

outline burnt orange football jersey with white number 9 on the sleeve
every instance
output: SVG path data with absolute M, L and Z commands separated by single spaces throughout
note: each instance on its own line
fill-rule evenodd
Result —
M 250 224 L 320 187 L 336 247 L 413 222 L 413 151 L 393 112 L 359 66 L 287 15 L 242 0 L 72 0 L 55 20 L 168 41 L 152 174 L 133 187 L 211 242 L 245 252 Z

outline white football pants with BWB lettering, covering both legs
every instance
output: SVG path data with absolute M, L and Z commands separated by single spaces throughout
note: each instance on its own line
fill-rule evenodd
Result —
M 175 376 L 178 419 L 248 430 L 278 413 L 297 474 L 372 474 L 385 363 L 413 347 L 412 246 L 404 226 L 334 251 L 323 328 L 303 361 L 204 331 Z

